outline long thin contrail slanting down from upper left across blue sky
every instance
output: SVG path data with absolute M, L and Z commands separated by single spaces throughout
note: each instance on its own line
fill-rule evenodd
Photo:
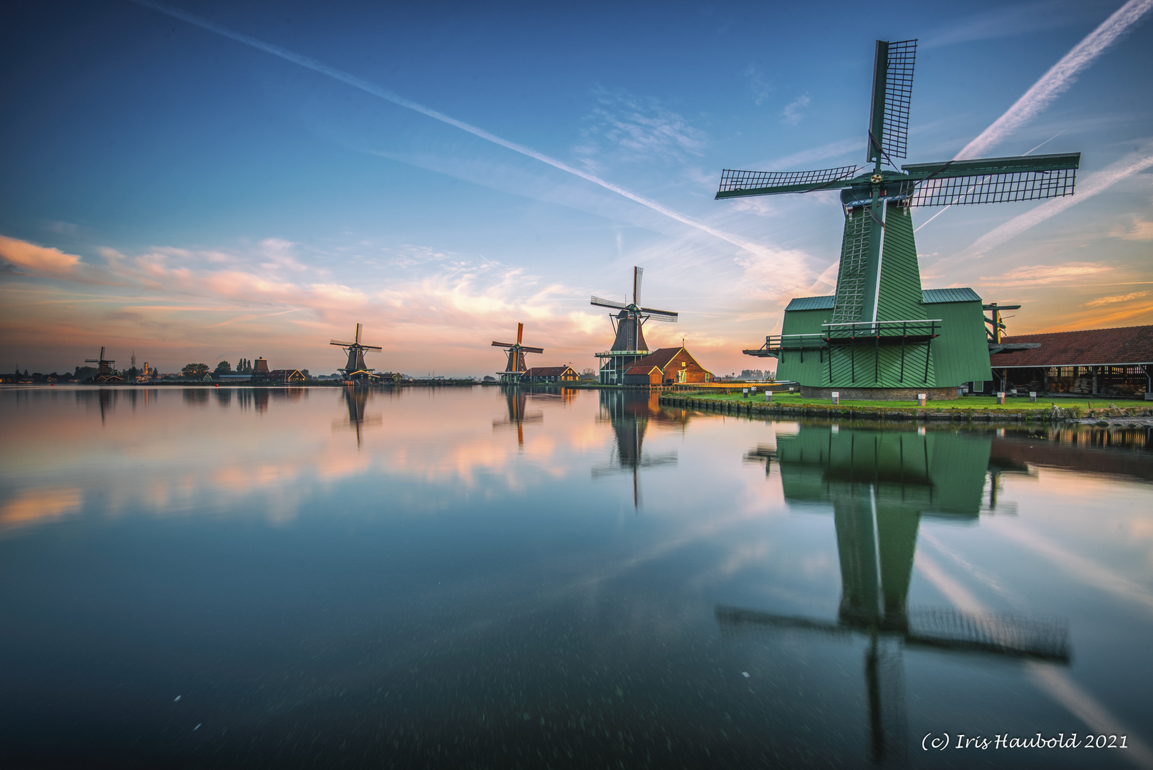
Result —
M 571 173 L 571 174 L 573 174 L 575 177 L 580 177 L 581 179 L 583 179 L 586 181 L 590 181 L 594 185 L 598 185 L 598 186 L 603 187 L 606 190 L 616 193 L 617 195 L 620 195 L 623 197 L 627 197 L 630 201 L 633 201 L 634 203 L 640 203 L 641 205 L 647 207 L 647 208 L 656 211 L 657 214 L 663 214 L 664 216 L 666 216 L 666 217 L 669 217 L 671 219 L 676 219 L 677 222 L 679 222 L 681 224 L 685 224 L 685 225 L 688 225 L 689 227 L 695 227 L 696 230 L 700 230 L 701 232 L 706 232 L 706 233 L 708 233 L 708 234 L 710 234 L 710 236 L 713 236 L 715 238 L 719 238 L 721 240 L 728 241 L 728 242 L 732 244 L 733 246 L 737 246 L 737 247 L 739 247 L 741 249 L 745 249 L 746 252 L 751 252 L 751 253 L 754 253 L 754 254 L 758 254 L 758 255 L 762 255 L 762 254 L 766 254 L 766 253 L 769 253 L 769 252 L 773 251 L 773 249 L 766 248 L 763 246 L 760 246 L 759 244 L 754 244 L 753 241 L 745 240 L 744 238 L 740 238 L 739 236 L 733 236 L 731 233 L 723 232 L 723 231 L 717 230 L 715 227 L 710 227 L 709 225 L 707 225 L 704 223 L 696 222 L 692 217 L 688 217 L 688 216 L 686 216 L 684 214 L 680 214 L 679 211 L 673 211 L 672 209 L 670 209 L 668 207 L 661 205 L 656 201 L 649 200 L 649 199 L 647 199 L 647 197 L 645 197 L 642 195 L 636 195 L 635 193 L 632 193 L 632 192 L 625 189 L 624 187 L 620 187 L 618 185 L 613 185 L 610 181 L 605 181 L 604 179 L 601 179 L 600 177 L 596 177 L 596 175 L 590 174 L 588 172 L 581 171 L 580 169 L 571 166 L 567 163 L 564 163 L 562 160 L 557 160 L 556 158 L 549 157 L 548 155 L 544 155 L 543 152 L 537 152 L 533 148 L 525 147 L 523 144 L 518 144 L 517 142 L 511 142 L 511 141 L 508 141 L 506 139 L 502 139 L 500 136 L 497 136 L 496 134 L 491 134 L 491 133 L 484 130 L 483 128 L 477 128 L 476 126 L 466 124 L 462 120 L 457 120 L 455 118 L 446 115 L 443 112 L 438 112 L 438 111 L 436 111 L 436 110 L 434 110 L 431 107 L 424 106 L 423 104 L 420 104 L 417 102 L 413 102 L 412 99 L 407 99 L 407 98 L 400 96 L 399 94 L 394 94 L 393 91 L 390 91 L 386 88 L 382 88 L 382 87 L 377 85 L 376 83 L 370 83 L 367 80 L 363 80 L 361 77 L 356 77 L 355 75 L 352 75 L 352 74 L 346 73 L 344 70 L 340 70 L 340 69 L 337 69 L 334 67 L 330 67 L 330 66 L 327 66 L 325 63 L 322 63 L 322 62 L 317 61 L 316 59 L 309 59 L 308 57 L 302 57 L 299 53 L 293 53 L 292 51 L 288 51 L 286 48 L 281 48 L 281 47 L 272 45 L 270 43 L 265 43 L 264 40 L 258 40 L 257 38 L 249 37 L 248 35 L 242 35 L 240 32 L 236 32 L 234 30 L 228 29 L 227 27 L 221 27 L 220 24 L 211 22 L 211 21 L 209 21 L 206 18 L 201 18 L 199 16 L 195 16 L 195 15 L 193 15 L 190 13 L 187 13 L 184 10 L 181 10 L 179 8 L 173 8 L 171 6 L 166 6 L 166 5 L 163 5 L 163 3 L 159 3 L 159 2 L 153 2 L 152 0 L 130 0 L 130 2 L 135 2 L 136 5 L 143 6 L 145 8 L 151 8 L 152 10 L 159 12 L 159 13 L 165 14 L 167 16 L 172 16 L 173 18 L 179 18 L 181 21 L 188 22 L 189 24 L 195 24 L 196 27 L 199 27 L 202 29 L 206 29 L 210 32 L 216 32 L 217 35 L 220 35 L 221 37 L 226 37 L 226 38 L 228 38 L 231 40 L 235 40 L 238 43 L 242 43 L 242 44 L 244 44 L 247 46 L 250 46 L 250 47 L 254 47 L 254 48 L 256 48 L 258 51 L 264 51 L 265 53 L 271 53 L 274 57 L 279 57 L 280 59 L 284 59 L 286 61 L 291 61 L 291 62 L 293 62 L 295 65 L 300 65 L 301 67 L 304 67 L 307 69 L 311 69 L 312 72 L 321 73 L 322 75 L 327 75 L 329 77 L 331 77 L 333 80 L 338 80 L 341 83 L 345 83 L 347 85 L 352 85 L 353 88 L 360 89 L 361 91 L 364 91 L 367 94 L 371 94 L 372 96 L 378 96 L 382 99 L 386 99 L 389 102 L 392 102 L 393 104 L 397 104 L 397 105 L 399 105 L 401 107 L 407 107 L 409 110 L 413 110 L 415 112 L 421 113 L 422 115 L 428 115 L 429 118 L 432 118 L 434 120 L 439 120 L 443 124 L 447 124 L 450 126 L 459 128 L 460 130 L 468 132 L 469 134 L 473 134 L 474 136 L 478 136 L 478 137 L 481 137 L 481 139 L 483 139 L 483 140 L 485 140 L 488 142 L 492 142 L 493 144 L 499 144 L 500 147 L 505 148 L 507 150 L 512 150 L 513 152 L 519 152 L 520 155 L 525 155 L 525 156 L 530 157 L 530 158 L 533 158 L 535 160 L 540 160 L 541 163 L 547 163 L 548 165 L 552 166 L 553 169 L 559 169 L 560 171 Z M 1148 0 L 1148 2 L 1153 2 L 1153 0 Z

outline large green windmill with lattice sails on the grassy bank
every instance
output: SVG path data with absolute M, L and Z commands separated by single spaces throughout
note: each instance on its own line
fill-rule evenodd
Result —
M 1072 195 L 1080 154 L 903 165 L 917 40 L 876 42 L 868 128 L 872 169 L 733 171 L 717 199 L 839 189 L 845 230 L 837 289 L 796 298 L 782 334 L 749 356 L 778 360 L 777 377 L 801 393 L 843 397 L 956 397 L 992 379 L 981 298 L 972 289 L 921 289 L 914 205 L 1005 203 Z M 892 170 L 884 170 L 888 164 Z

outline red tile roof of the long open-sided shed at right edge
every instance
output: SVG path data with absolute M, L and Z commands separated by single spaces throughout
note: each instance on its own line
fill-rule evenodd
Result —
M 989 357 L 993 368 L 1018 366 L 1121 366 L 1153 364 L 1153 327 L 1082 329 L 1002 337 L 1002 342 L 1039 342 L 1040 347 Z

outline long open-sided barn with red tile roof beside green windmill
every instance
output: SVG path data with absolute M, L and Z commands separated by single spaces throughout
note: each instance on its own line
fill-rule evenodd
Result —
M 1040 346 L 989 356 L 995 390 L 1151 398 L 1153 326 L 1015 335 L 1001 343 Z

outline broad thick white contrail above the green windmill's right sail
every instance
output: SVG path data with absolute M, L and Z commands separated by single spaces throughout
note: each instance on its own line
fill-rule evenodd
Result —
M 1106 18 L 1100 27 L 1085 36 L 1085 39 L 1075 45 L 1069 53 L 1062 57 L 1061 61 L 1053 65 L 1049 72 L 1033 83 L 1033 88 L 1025 91 L 1025 95 L 1017 99 L 1003 115 L 954 156 L 954 160 L 981 157 L 1005 136 L 1032 120 L 1049 106 L 1053 99 L 1072 85 L 1078 73 L 1105 53 L 1106 48 L 1113 45 L 1126 29 L 1137 23 L 1150 8 L 1153 8 L 1153 0 L 1129 0 Z

